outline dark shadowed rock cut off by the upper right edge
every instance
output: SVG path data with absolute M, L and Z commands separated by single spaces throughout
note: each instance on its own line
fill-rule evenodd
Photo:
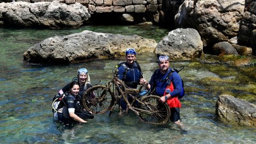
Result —
M 256 1 L 246 1 L 237 41 L 238 44 L 252 46 L 256 53 Z

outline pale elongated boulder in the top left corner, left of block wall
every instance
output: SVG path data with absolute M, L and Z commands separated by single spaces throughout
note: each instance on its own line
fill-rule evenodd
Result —
M 17 27 L 79 27 L 91 15 L 80 3 L 64 4 L 53 2 L 0 3 L 0 25 Z M 1 22 L 2 21 L 2 22 Z

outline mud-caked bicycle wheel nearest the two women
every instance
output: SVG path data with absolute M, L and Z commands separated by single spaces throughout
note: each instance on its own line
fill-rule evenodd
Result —
M 94 85 L 83 95 L 83 106 L 94 114 L 104 114 L 114 105 L 115 97 L 104 85 Z

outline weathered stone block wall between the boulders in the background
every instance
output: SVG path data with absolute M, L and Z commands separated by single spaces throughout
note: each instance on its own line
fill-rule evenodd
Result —
M 12 2 L 13 0 L 2 0 Z M 52 2 L 53 0 L 15 0 L 23 2 Z M 66 4 L 81 3 L 88 8 L 89 13 L 95 14 L 94 19 L 110 18 L 111 20 L 121 20 L 125 22 L 158 22 L 159 8 L 161 9 L 162 1 L 166 0 L 58 0 Z M 172 1 L 172 0 L 167 0 Z M 0 0 L 1 2 L 1 0 Z M 97 16 L 96 16 L 97 15 Z M 100 15 L 100 16 L 99 16 Z M 112 17 L 112 19 L 111 19 Z M 115 18 L 113 18 L 115 17 Z M 105 20 L 106 21 L 106 20 Z M 116 22 L 116 21 L 115 21 Z

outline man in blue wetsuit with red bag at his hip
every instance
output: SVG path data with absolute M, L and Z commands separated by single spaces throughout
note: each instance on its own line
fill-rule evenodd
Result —
M 154 95 L 158 95 L 159 97 L 161 97 L 160 100 L 162 102 L 167 102 L 167 100 L 171 98 L 177 98 L 178 100 L 178 96 L 184 93 L 181 77 L 176 71 L 171 72 L 169 57 L 166 55 L 160 56 L 158 58 L 158 66 L 159 66 L 159 69 L 157 69 L 154 72 L 154 74 L 151 76 L 150 82 L 148 85 L 146 85 L 145 88 L 147 90 L 151 89 L 151 91 L 154 90 Z M 148 82 L 146 81 L 146 79 L 141 79 L 140 83 L 146 84 Z M 174 87 L 173 90 L 167 89 L 167 86 L 170 85 L 170 83 L 172 83 Z M 174 106 L 174 107 L 170 106 L 170 108 L 171 108 L 170 120 L 174 124 L 179 125 L 182 131 L 185 131 L 185 127 L 180 121 L 179 106 Z

